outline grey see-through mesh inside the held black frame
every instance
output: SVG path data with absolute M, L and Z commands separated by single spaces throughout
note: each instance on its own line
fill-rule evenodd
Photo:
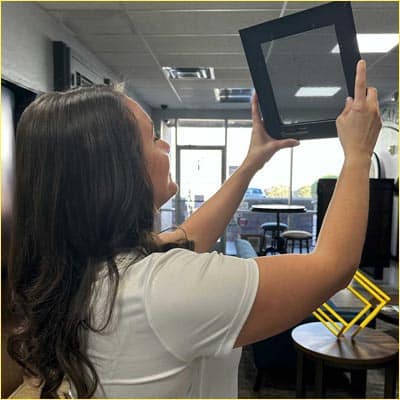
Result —
M 335 120 L 341 113 L 347 87 L 340 53 L 331 52 L 337 43 L 330 25 L 261 44 L 283 124 Z M 310 93 L 310 87 L 332 95 Z M 309 96 L 296 96 L 301 88 Z

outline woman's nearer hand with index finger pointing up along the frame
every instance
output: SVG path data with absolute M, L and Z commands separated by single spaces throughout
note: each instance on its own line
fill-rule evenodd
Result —
M 354 99 L 348 97 L 346 106 L 336 119 L 336 128 L 342 144 L 345 158 L 371 157 L 381 130 L 378 93 L 368 88 L 366 64 L 360 60 L 357 64 Z

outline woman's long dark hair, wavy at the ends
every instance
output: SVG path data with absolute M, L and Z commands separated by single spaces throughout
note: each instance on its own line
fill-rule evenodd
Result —
M 28 106 L 17 128 L 14 201 L 9 283 L 17 328 L 8 351 L 41 379 L 42 397 L 56 397 L 64 375 L 78 397 L 91 397 L 98 376 L 85 337 L 111 318 L 114 257 L 160 250 L 141 136 L 124 95 L 94 86 Z M 112 285 L 108 319 L 95 328 L 89 304 L 101 261 Z

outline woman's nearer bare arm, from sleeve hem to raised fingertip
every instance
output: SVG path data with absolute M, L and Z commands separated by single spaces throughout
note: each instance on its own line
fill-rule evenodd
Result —
M 354 100 L 336 120 L 345 161 L 318 243 L 307 255 L 256 258 L 259 286 L 235 347 L 284 331 L 351 280 L 361 257 L 368 220 L 369 169 L 381 128 L 377 92 L 368 88 L 366 66 L 357 65 Z

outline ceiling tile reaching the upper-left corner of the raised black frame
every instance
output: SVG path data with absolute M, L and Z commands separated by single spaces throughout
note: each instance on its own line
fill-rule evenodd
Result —
M 142 34 L 237 34 L 241 28 L 279 16 L 271 11 L 128 12 Z

